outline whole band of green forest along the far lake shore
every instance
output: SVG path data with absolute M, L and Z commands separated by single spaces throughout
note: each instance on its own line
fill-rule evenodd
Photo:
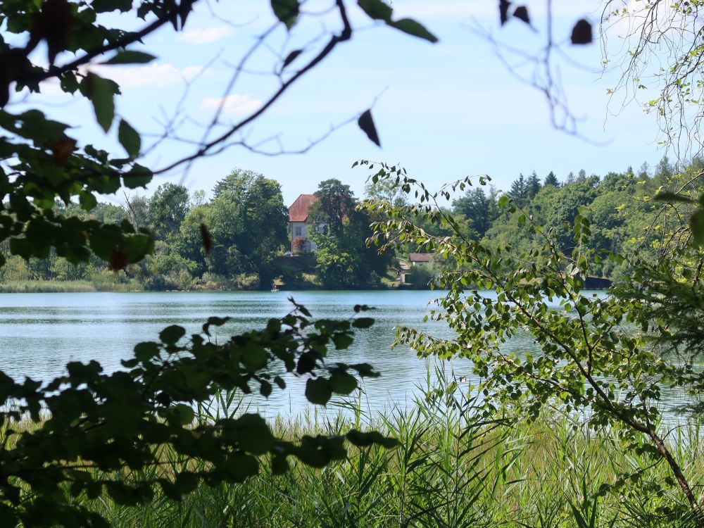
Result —
M 651 229 L 658 211 L 653 197 L 672 187 L 675 175 L 681 179 L 696 174 L 700 165 L 694 160 L 676 167 L 665 157 L 653 168 L 643 163 L 637 171 L 629 167 L 602 176 L 587 176 L 584 170 L 577 175 L 570 172 L 562 180 L 553 172 L 543 177 L 536 172 L 527 177 L 520 174 L 505 192 L 491 185 L 476 186 L 457 193 L 445 208 L 463 226 L 466 237 L 490 247 L 510 244 L 524 251 L 534 244 L 529 225 L 519 222 L 521 215 L 547 230 L 572 225 L 581 214 L 594 226 L 591 249 L 605 253 L 642 250 L 654 256 L 659 234 Z M 296 253 L 296 247 L 291 244 L 288 209 L 275 180 L 237 169 L 220 180 L 210 194 L 213 198 L 208 200 L 204 191 L 166 183 L 151 197 L 125 195 L 124 203 L 99 202 L 89 210 L 80 203 L 57 203 L 58 215 L 115 225 L 127 220 L 149 230 L 153 253 L 122 269 L 95 256 L 73 265 L 56 256 L 55 250 L 42 259 L 10 256 L 0 268 L 0 289 L 237 290 L 268 289 L 274 283 L 286 289 L 398 287 L 398 259 L 408 262 L 409 253 L 416 251 L 405 244 L 379 255 L 374 246 L 367 247 L 370 224 L 379 220 L 378 215 L 359 208 L 360 199 L 339 180 L 320 182 L 315 191 L 319 201 L 308 218 L 311 224 L 324 225 L 325 230 L 309 230 L 318 250 L 307 258 L 283 258 L 291 249 Z M 520 212 L 500 208 L 501 196 L 507 196 Z M 398 187 L 383 182 L 368 182 L 363 199 L 395 205 L 410 201 Z M 210 248 L 203 246 L 201 226 L 212 237 Z M 450 234 L 431 224 L 422 227 L 434 234 Z M 7 247 L 8 241 L 2 244 Z M 574 241 L 562 235 L 558 244 L 561 251 L 570 251 Z M 436 260 L 413 268 L 401 286 L 429 287 L 433 276 L 452 266 L 451 261 Z M 593 265 L 589 275 L 617 278 L 627 270 L 624 266 L 605 259 Z

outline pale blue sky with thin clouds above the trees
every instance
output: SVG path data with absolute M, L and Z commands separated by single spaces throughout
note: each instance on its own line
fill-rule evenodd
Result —
M 289 71 L 295 71 L 325 44 L 329 32 L 338 30 L 339 21 L 329 13 L 332 4 L 308 0 L 303 6 L 307 14 L 298 25 L 290 32 L 283 25 L 276 27 L 232 86 L 234 70 L 246 49 L 276 22 L 268 1 L 201 0 L 182 32 L 169 25 L 145 39 L 143 46 L 132 47 L 157 56 L 152 63 L 87 69 L 120 83 L 118 114 L 144 134 L 147 152 L 140 163 L 158 170 L 196 149 L 221 103 L 220 124 L 211 134 L 260 108 L 277 89 L 279 80 L 272 72 L 280 68 L 282 58 L 294 49 L 308 50 L 289 66 Z M 540 177 L 553 171 L 565 180 L 569 172 L 581 169 L 589 175 L 605 175 L 629 166 L 637 170 L 644 161 L 658 163 L 666 152 L 657 144 L 653 116 L 636 103 L 624 106 L 629 94 L 619 93 L 616 99 L 607 94 L 620 75 L 617 58 L 624 41 L 619 32 L 624 28 L 612 28 L 608 44 L 612 69 L 603 70 L 598 42 L 567 44 L 579 18 L 598 25 L 598 1 L 553 1 L 553 34 L 561 50 L 553 53 L 553 73 L 578 119 L 577 134 L 555 130 L 545 96 L 517 78 L 530 79 L 532 65 L 508 51 L 502 60 L 491 43 L 498 39 L 534 54 L 545 43 L 546 1 L 524 3 L 533 27 L 517 19 L 501 27 L 497 4 L 495 0 L 394 0 L 394 18 L 422 22 L 439 38 L 431 44 L 373 22 L 356 2 L 348 2 L 354 27 L 351 42 L 334 49 L 236 138 L 270 154 L 310 149 L 272 156 L 232 145 L 216 156 L 156 177 L 142 192 L 151 194 L 167 181 L 210 192 L 231 170 L 244 168 L 277 180 L 284 202 L 290 205 L 298 194 L 314 192 L 318 182 L 331 177 L 363 196 L 369 172 L 351 168 L 359 159 L 403 165 L 410 175 L 431 186 L 489 175 L 498 189 L 508 189 L 520 173 L 529 175 L 534 170 Z M 142 21 L 134 15 L 114 14 L 106 17 L 107 23 L 133 29 Z M 38 53 L 34 60 L 46 61 L 42 51 Z M 117 127 L 104 134 L 87 101 L 65 96 L 51 83 L 42 90 L 42 96 L 32 95 L 8 110 L 40 108 L 51 118 L 70 122 L 74 128 L 69 133 L 81 144 L 92 143 L 122 155 L 115 142 Z M 372 108 L 381 148 L 356 125 L 357 116 L 367 108 Z M 173 125 L 179 139 L 146 149 L 163 134 L 166 123 Z

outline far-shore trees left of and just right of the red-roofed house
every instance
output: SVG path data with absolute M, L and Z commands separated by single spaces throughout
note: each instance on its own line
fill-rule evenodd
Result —
M 56 202 L 56 215 L 120 225 L 127 220 L 148 230 L 153 252 L 124 268 L 92 256 L 74 265 L 51 250 L 46 258 L 8 256 L 0 282 L 87 280 L 108 277 L 134 289 L 256 289 L 275 281 L 291 286 L 375 287 L 391 263 L 365 246 L 372 218 L 356 210 L 348 185 L 320 183 L 309 218 L 322 226 L 312 236 L 313 259 L 282 262 L 291 248 L 288 208 L 281 186 L 251 170 L 233 170 L 213 188 L 189 192 L 180 184 L 161 184 L 151 198 L 135 195 L 124 204 Z M 5 246 L 8 241 L 4 241 Z M 9 253 L 9 252 L 8 252 Z M 121 268 L 121 269 L 115 269 Z M 310 273 L 306 274 L 306 271 Z M 306 282 L 306 278 L 308 282 Z

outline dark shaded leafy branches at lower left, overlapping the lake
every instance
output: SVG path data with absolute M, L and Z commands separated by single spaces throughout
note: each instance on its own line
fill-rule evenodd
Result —
M 356 312 L 365 310 L 357 306 Z M 353 444 L 394 445 L 378 433 L 351 431 L 346 436 L 303 436 L 292 441 L 274 436 L 256 414 L 224 415 L 194 425 L 194 404 L 208 403 L 221 390 L 258 391 L 264 397 L 287 386 L 284 372 L 304 377 L 306 398 L 325 405 L 332 394 L 350 394 L 357 379 L 377 376 L 370 365 L 326 363 L 328 347 L 347 348 L 353 328 L 369 318 L 312 321 L 302 306 L 265 329 L 233 336 L 222 344 L 210 340 L 213 327 L 227 318 L 210 318 L 201 334 L 186 337 L 180 326 L 166 327 L 160 341 L 140 343 L 125 370 L 104 374 L 99 363 L 68 363 L 68 373 L 42 384 L 18 383 L 0 375 L 6 426 L 0 451 L 4 526 L 106 526 L 76 498 L 109 496 L 120 505 L 153 498 L 154 486 L 180 499 L 197 486 L 242 482 L 257 474 L 263 455 L 271 470 L 287 470 L 288 457 L 315 467 L 346 456 L 344 439 Z M 275 375 L 272 372 L 279 372 Z M 8 403 L 10 404 L 8 406 Z M 29 415 L 37 424 L 20 434 L 13 422 Z M 151 472 L 161 465 L 161 446 L 183 464 L 174 474 Z M 189 470 L 188 461 L 201 462 Z M 130 482 L 96 477 L 126 471 Z

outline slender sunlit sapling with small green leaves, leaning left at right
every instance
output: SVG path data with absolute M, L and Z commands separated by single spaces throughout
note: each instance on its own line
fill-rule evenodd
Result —
M 586 244 L 591 222 L 581 213 L 574 217 L 574 245 L 565 253 L 558 229 L 543 229 L 511 205 L 508 196 L 502 196 L 499 205 L 518 214 L 517 221 L 527 224 L 542 242 L 527 251 L 513 251 L 506 244 L 491 249 L 463 237 L 453 218 L 438 208 L 439 199 L 447 196 L 445 187 L 431 193 L 387 165 L 381 165 L 376 175 L 391 179 L 401 175 L 402 182 L 415 187 L 428 203 L 422 214 L 451 227 L 455 234 L 435 237 L 404 218 L 408 207 L 370 202 L 367 208 L 381 210 L 391 219 L 375 224 L 373 239 L 394 245 L 405 237 L 440 258 L 451 255 L 461 266 L 461 272 L 447 272 L 436 279 L 436 286 L 448 293 L 441 300 L 442 309 L 432 312 L 434 319 L 447 322 L 457 338 L 439 339 L 403 328 L 398 342 L 410 344 L 420 356 L 470 360 L 474 375 L 482 379 L 479 389 L 486 396 L 486 416 L 509 406 L 534 420 L 548 403 L 568 413 L 588 413 L 586 424 L 591 429 L 608 427 L 636 452 L 648 454 L 653 463 L 667 464 L 672 482 L 677 482 L 686 499 L 682 515 L 689 510 L 690 515 L 701 517 L 700 502 L 681 469 L 683 461 L 674 457 L 655 424 L 661 417 L 662 391 L 679 387 L 697 394 L 704 375 L 693 363 L 661 356 L 648 346 L 646 332 L 658 328 L 639 319 L 638 314 L 645 313 L 639 300 L 582 293 L 582 277 L 601 258 Z M 462 180 L 451 187 L 466 183 Z M 578 185 L 591 187 L 589 181 Z M 620 260 L 622 256 L 612 254 L 610 258 Z M 636 322 L 643 325 L 642 332 L 634 329 Z M 518 332 L 529 332 L 535 347 L 522 355 L 505 353 L 503 345 Z M 601 493 L 621 485 L 617 480 L 603 486 Z

